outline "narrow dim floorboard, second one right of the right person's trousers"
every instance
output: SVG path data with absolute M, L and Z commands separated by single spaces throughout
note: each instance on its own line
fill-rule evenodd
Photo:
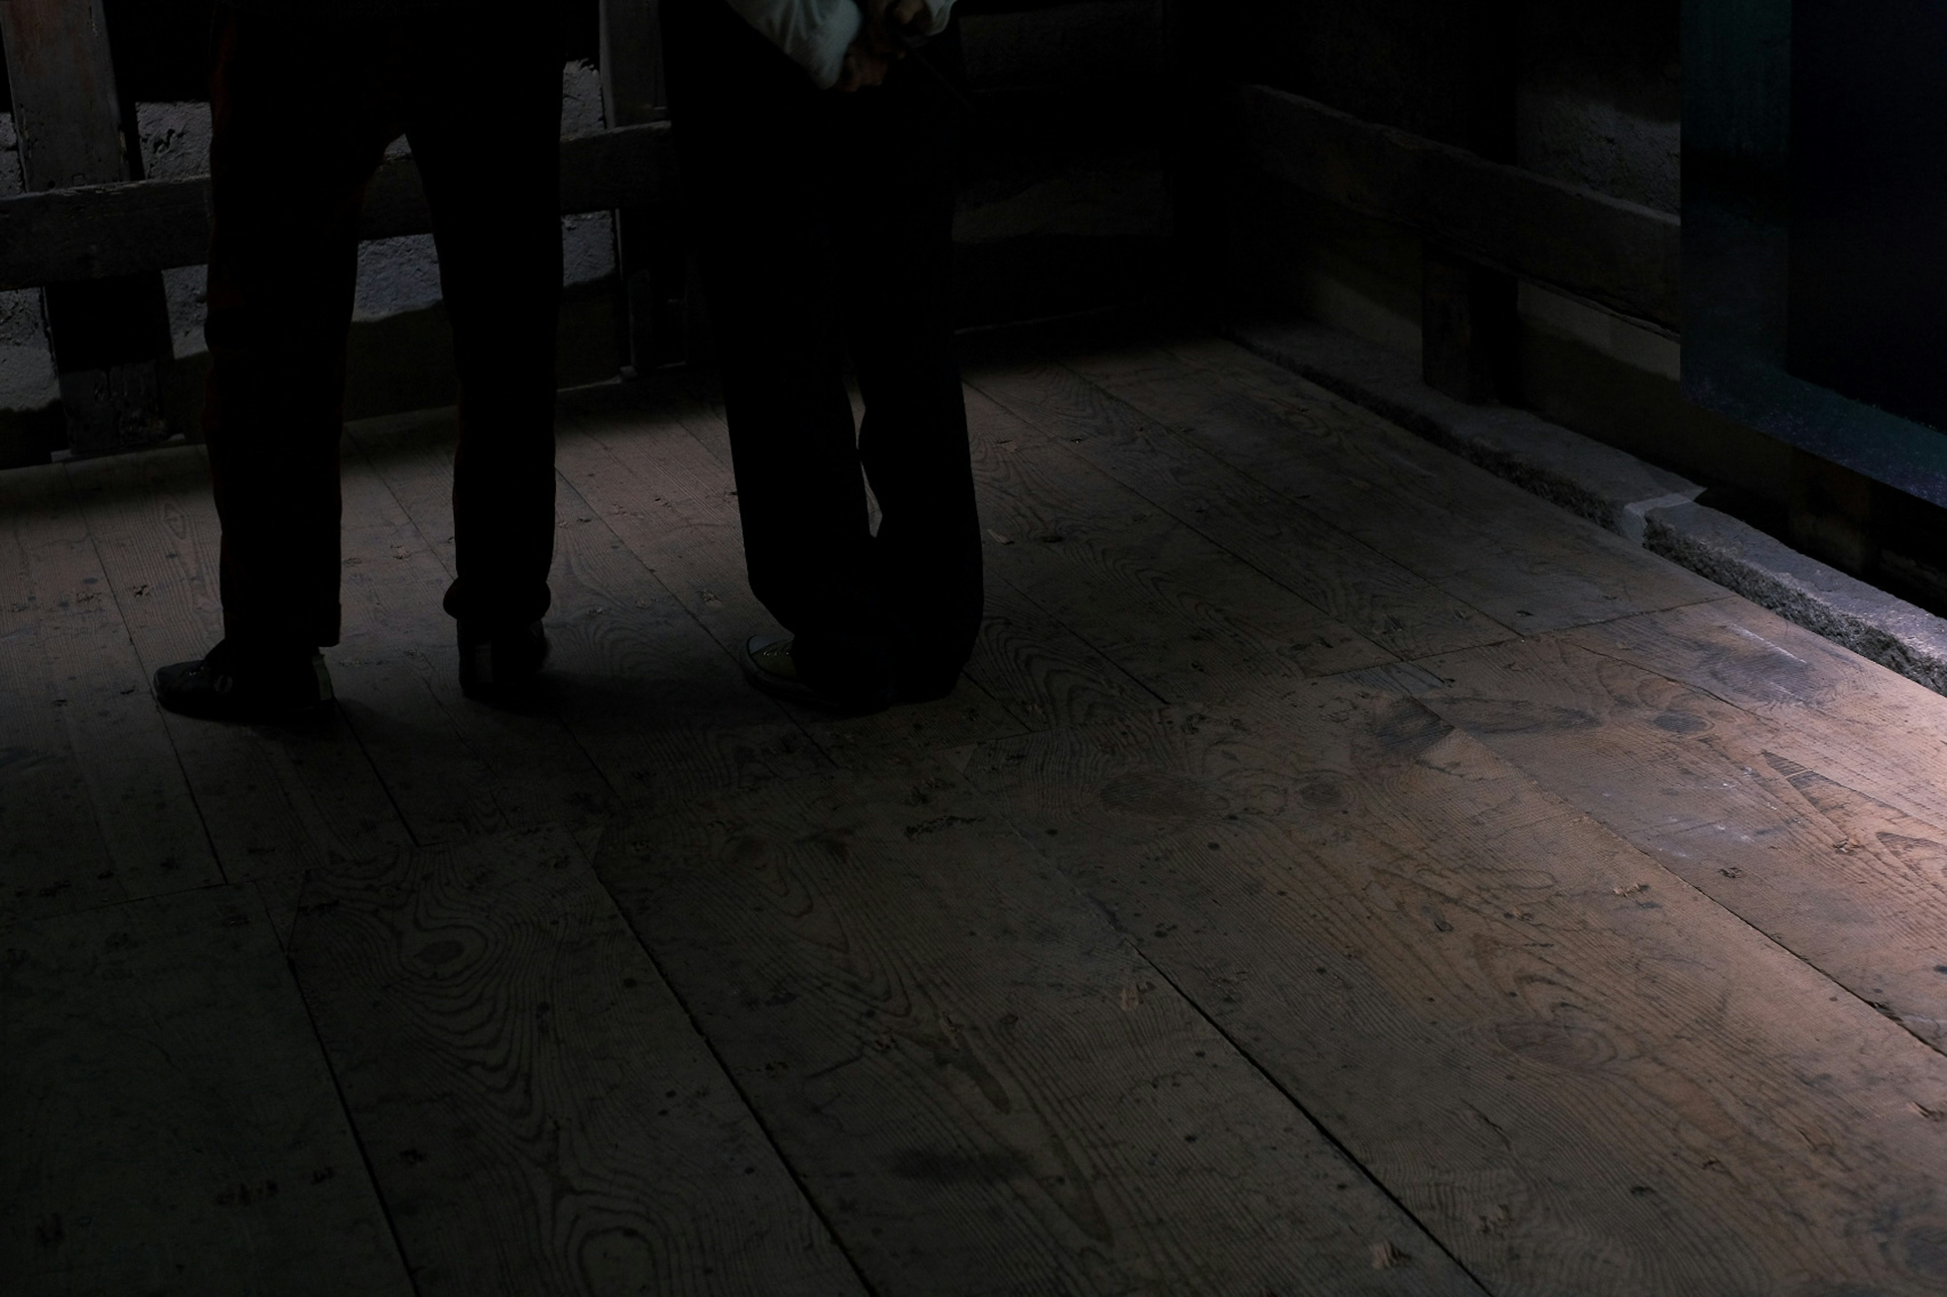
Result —
M 1425 656 L 1513 635 L 1065 366 L 979 368 L 972 382 L 1047 438 L 1390 652 Z

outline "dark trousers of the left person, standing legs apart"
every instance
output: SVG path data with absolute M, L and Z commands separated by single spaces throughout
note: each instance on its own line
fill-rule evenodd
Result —
M 561 27 L 506 16 L 319 19 L 218 8 L 210 376 L 224 635 L 339 641 L 339 438 L 358 212 L 407 136 L 459 370 L 458 580 L 489 627 L 549 604 L 561 304 Z

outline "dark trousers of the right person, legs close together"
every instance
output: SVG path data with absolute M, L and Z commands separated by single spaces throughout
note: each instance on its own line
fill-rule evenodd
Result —
M 662 16 L 752 590 L 824 691 L 944 693 L 981 619 L 950 315 L 962 107 L 913 60 L 822 92 L 724 0 Z M 952 76 L 952 35 L 927 53 Z

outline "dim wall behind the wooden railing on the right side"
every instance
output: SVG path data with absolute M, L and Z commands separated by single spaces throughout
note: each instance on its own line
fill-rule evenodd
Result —
M 1680 0 L 1258 4 L 1250 41 L 1205 29 L 1207 76 L 1256 80 L 1663 212 L 1682 201 Z M 1231 195 L 1227 282 L 1419 352 L 1421 243 L 1252 177 Z M 1680 341 L 1521 286 L 1515 399 L 1762 512 L 1791 491 L 1782 444 L 1688 405 Z

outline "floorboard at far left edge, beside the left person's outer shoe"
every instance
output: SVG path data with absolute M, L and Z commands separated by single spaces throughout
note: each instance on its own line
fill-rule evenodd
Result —
M 0 473 L 0 861 L 10 913 L 222 880 L 62 469 Z

